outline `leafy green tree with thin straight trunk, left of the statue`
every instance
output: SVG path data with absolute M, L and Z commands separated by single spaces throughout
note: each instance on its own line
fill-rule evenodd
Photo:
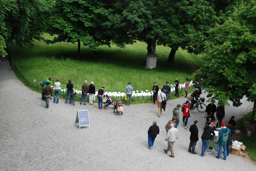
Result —
M 110 47 L 110 38 L 104 34 L 102 23 L 106 21 L 111 11 L 108 1 L 103 0 L 58 0 L 55 2 L 52 16 L 49 19 L 47 32 L 56 42 L 78 42 L 78 57 L 80 44 L 97 50 L 100 45 Z

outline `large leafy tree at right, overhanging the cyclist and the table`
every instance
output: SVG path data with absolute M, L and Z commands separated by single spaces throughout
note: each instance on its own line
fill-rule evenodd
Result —
M 256 2 L 241 3 L 224 24 L 208 31 L 202 55 L 204 66 L 194 79 L 203 79 L 209 101 L 240 106 L 245 96 L 254 102 L 250 129 L 255 130 L 256 113 Z

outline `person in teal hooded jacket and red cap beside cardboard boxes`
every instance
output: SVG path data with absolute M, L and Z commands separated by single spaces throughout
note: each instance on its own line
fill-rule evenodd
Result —
M 227 160 L 227 139 L 228 135 L 230 135 L 230 129 L 226 127 L 225 123 L 222 122 L 220 125 L 223 127 L 219 132 L 219 150 L 218 150 L 218 156 L 216 156 L 217 159 L 220 159 L 222 148 L 224 149 L 224 160 Z

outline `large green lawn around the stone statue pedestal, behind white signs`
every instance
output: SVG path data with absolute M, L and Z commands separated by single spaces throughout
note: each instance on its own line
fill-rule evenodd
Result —
M 48 34 L 44 34 L 44 37 L 52 38 Z M 72 79 L 72 83 L 78 87 L 78 90 L 81 90 L 84 80 L 87 80 L 88 83 L 94 81 L 97 90 L 105 86 L 107 92 L 125 92 L 125 86 L 131 82 L 133 90 L 145 92 L 145 90 L 152 90 L 154 82 L 157 82 L 161 88 L 166 81 L 173 84 L 176 76 L 180 83 L 184 83 L 185 78 L 192 75 L 190 61 L 198 66 L 202 65 L 199 55 L 189 54 L 181 49 L 176 52 L 175 64 L 166 65 L 171 49 L 157 46 L 156 54 L 159 56 L 157 68 L 147 69 L 145 68 L 147 46 L 142 42 L 127 45 L 124 49 L 115 45 L 111 48 L 100 46 L 97 54 L 93 54 L 92 50 L 81 45 L 80 59 L 77 59 L 77 44 L 62 42 L 47 45 L 36 40 L 34 43 L 37 47 L 14 46 L 14 59 L 19 69 L 30 80 L 35 79 L 36 84 L 40 84 L 50 76 L 53 81 L 59 78 L 62 88 L 66 88 L 66 83 Z M 16 70 L 15 72 L 20 77 Z M 22 77 L 20 79 L 24 80 Z M 36 86 L 25 84 L 40 92 Z M 184 94 L 185 92 L 180 96 Z M 140 103 L 143 102 L 148 100 L 140 101 Z

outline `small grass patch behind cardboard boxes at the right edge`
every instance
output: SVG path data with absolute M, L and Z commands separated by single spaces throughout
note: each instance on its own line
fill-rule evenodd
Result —
M 251 120 L 252 112 L 249 112 L 244 116 L 244 118 L 239 120 L 239 126 L 243 127 L 244 120 Z M 248 137 L 247 134 L 244 137 L 239 139 L 240 142 L 246 146 L 245 151 L 248 152 L 248 156 L 251 157 L 252 160 L 256 161 L 256 133 L 253 132 L 251 137 Z

